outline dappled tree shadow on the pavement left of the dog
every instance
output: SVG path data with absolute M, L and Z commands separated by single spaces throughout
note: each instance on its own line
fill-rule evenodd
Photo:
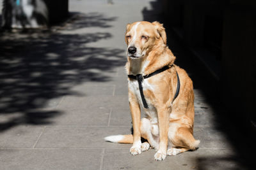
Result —
M 68 30 L 111 27 L 115 20 L 100 13 L 81 15 L 87 17 L 86 22 L 76 18 L 68 23 Z M 51 124 L 52 117 L 61 115 L 55 109 L 61 97 L 79 95 L 72 86 L 111 80 L 106 73 L 124 65 L 120 60 L 124 50 L 87 46 L 108 38 L 108 32 L 1 32 L 0 131 L 22 124 Z

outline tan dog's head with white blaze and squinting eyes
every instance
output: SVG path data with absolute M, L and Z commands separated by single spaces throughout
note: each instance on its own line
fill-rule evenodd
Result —
M 166 33 L 159 22 L 134 22 L 127 24 L 125 32 L 127 55 L 131 59 L 140 59 L 156 45 L 166 45 Z

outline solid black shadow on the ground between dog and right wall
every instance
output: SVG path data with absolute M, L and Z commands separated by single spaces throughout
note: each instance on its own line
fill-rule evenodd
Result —
M 214 80 L 209 72 L 205 71 L 198 60 L 195 60 L 193 55 L 186 50 L 182 42 L 177 40 L 177 37 L 172 31 L 172 23 L 168 20 L 168 16 L 163 15 L 161 9 L 161 1 L 152 1 L 152 10 L 144 8 L 143 18 L 144 20 L 153 22 L 158 20 L 164 24 L 166 34 L 168 36 L 168 46 L 172 50 L 177 59 L 175 64 L 185 69 L 191 79 L 195 90 L 200 90 L 205 96 L 205 103 L 211 104 L 214 113 L 214 119 L 211 122 L 214 125 L 214 129 L 224 134 L 225 139 L 232 146 L 232 153 L 223 153 L 221 156 L 207 156 L 198 157 L 195 155 L 194 159 L 197 166 L 196 169 L 253 169 L 255 168 L 254 156 L 255 152 L 255 137 L 253 137 L 252 131 L 247 124 L 243 122 L 243 114 L 241 117 L 235 117 L 231 111 L 227 110 L 223 104 L 221 104 L 220 94 L 220 82 Z M 195 97 L 195 100 L 198 98 Z M 208 108 L 202 108 L 208 112 Z M 210 111 L 209 111 L 210 112 Z M 205 138 L 207 138 L 205 136 Z M 200 146 L 199 146 L 200 147 Z M 200 148 L 199 148 L 200 149 Z M 225 152 L 225 148 L 223 148 Z

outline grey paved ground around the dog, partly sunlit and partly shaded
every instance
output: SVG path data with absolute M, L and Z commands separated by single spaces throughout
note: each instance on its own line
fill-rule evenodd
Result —
M 0 169 L 246 169 L 217 127 L 214 83 L 168 32 L 177 64 L 195 85 L 198 150 L 154 160 L 129 144 L 104 141 L 131 134 L 124 32 L 156 20 L 158 1 L 70 0 L 70 19 L 52 31 L 2 32 L 0 41 Z M 214 105 L 215 104 L 215 105 Z

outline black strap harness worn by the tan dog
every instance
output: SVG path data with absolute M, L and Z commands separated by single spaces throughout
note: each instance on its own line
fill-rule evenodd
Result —
M 157 71 L 154 71 L 153 73 L 150 73 L 150 74 L 145 75 L 145 76 L 142 76 L 141 74 L 137 74 L 136 76 L 134 76 L 133 74 L 128 75 L 129 78 L 132 78 L 132 79 L 138 81 L 139 89 L 140 89 L 140 96 L 141 96 L 141 100 L 142 100 L 144 108 L 148 108 L 148 104 L 147 104 L 147 101 L 146 101 L 145 96 L 143 94 L 143 87 L 142 87 L 143 79 L 149 78 L 149 77 L 154 76 L 158 73 L 166 71 L 166 69 L 169 69 L 169 68 L 170 68 L 169 66 L 164 66 L 161 69 L 157 69 Z M 179 78 L 179 74 L 177 73 L 177 71 L 176 71 L 176 74 L 177 74 L 177 89 L 176 89 L 176 92 L 175 92 L 175 96 L 172 99 L 172 103 L 179 96 L 179 92 L 180 92 L 180 78 Z

